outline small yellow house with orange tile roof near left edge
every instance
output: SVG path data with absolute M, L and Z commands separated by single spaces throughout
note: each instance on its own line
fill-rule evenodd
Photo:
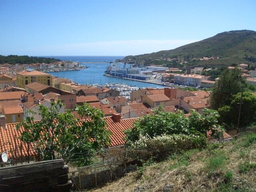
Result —
M 6 123 L 23 121 L 23 109 L 21 106 L 4 107 L 2 112 L 6 118 Z

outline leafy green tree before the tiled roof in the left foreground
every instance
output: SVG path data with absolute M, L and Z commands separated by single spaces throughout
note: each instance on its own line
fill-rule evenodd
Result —
M 59 100 L 57 104 L 52 102 L 50 108 L 40 105 L 41 121 L 34 122 L 33 117 L 28 117 L 18 124 L 17 128 L 24 128 L 20 138 L 35 151 L 39 151 L 43 160 L 52 160 L 57 156 L 65 158 L 66 162 L 76 158 L 77 163 L 86 164 L 89 154 L 110 142 L 104 114 L 84 104 L 76 107 L 80 116 L 76 118 L 70 110 L 60 113 L 62 107 Z M 75 155 L 78 152 L 79 156 Z

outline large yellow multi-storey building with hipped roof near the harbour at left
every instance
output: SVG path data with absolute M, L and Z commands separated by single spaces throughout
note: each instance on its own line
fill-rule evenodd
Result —
M 25 85 L 38 82 L 41 84 L 52 86 L 52 75 L 43 73 L 37 70 L 25 70 L 19 72 L 17 75 L 17 86 L 24 88 Z

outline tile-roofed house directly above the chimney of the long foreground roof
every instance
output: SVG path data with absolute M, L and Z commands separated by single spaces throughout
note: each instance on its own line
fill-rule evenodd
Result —
M 108 104 L 118 113 L 121 112 L 122 106 L 128 105 L 128 101 L 124 96 L 108 97 L 108 98 L 102 99 L 101 102 L 103 104 Z

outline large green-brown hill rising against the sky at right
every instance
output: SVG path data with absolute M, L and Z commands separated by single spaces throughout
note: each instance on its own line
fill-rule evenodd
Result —
M 256 62 L 256 32 L 252 30 L 236 30 L 222 32 L 213 37 L 194 42 L 173 50 L 163 50 L 150 54 L 126 56 L 134 62 L 140 56 L 145 64 L 162 60 L 166 63 L 168 58 L 178 58 L 179 61 L 192 62 L 193 58 L 216 56 L 218 60 L 194 61 L 194 64 L 232 64 L 242 62 Z M 252 57 L 251 57 L 252 56 Z M 150 59 L 151 58 L 151 59 Z M 159 61 L 158 61 L 159 63 Z

